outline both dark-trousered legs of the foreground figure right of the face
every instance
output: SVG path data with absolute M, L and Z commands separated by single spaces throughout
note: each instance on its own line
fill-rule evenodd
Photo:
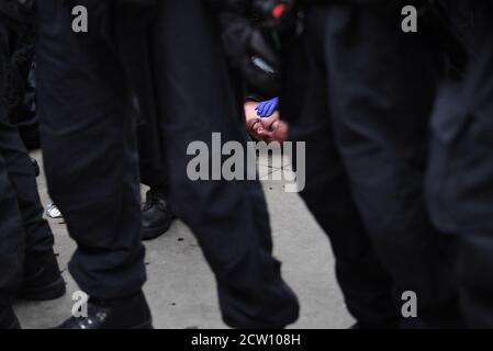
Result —
M 333 242 L 348 308 L 363 328 L 460 327 L 450 251 L 424 197 L 438 83 L 427 33 L 401 29 L 412 1 L 304 2 L 281 115 L 306 141 L 302 196 Z M 404 318 L 407 292 L 417 316 Z

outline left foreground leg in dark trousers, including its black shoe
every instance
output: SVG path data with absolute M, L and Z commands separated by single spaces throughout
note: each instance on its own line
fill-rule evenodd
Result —
M 135 116 L 114 38 L 119 7 L 85 1 L 89 33 L 71 30 L 72 2 L 38 3 L 37 81 L 49 193 L 77 250 L 69 270 L 91 296 L 85 328 L 148 327 L 141 242 Z M 132 22 L 128 22 L 132 23 Z M 98 314 L 103 312 L 103 314 Z M 91 316 L 89 316 L 91 317 Z M 67 328 L 80 328 L 71 320 Z

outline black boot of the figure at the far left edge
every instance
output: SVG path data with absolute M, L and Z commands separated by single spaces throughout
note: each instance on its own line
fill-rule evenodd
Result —
M 40 258 L 27 257 L 18 298 L 48 301 L 61 297 L 66 291 L 55 253 L 51 252 Z

